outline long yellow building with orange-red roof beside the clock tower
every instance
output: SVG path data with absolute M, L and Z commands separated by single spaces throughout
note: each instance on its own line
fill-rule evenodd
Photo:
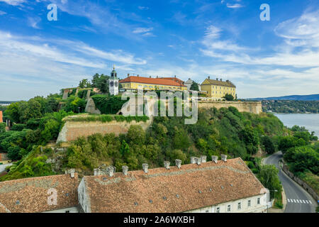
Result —
M 171 90 L 171 91 L 184 91 L 187 87 L 180 79 L 169 78 L 152 78 L 152 77 L 135 77 L 128 76 L 120 81 L 121 89 L 125 90 Z

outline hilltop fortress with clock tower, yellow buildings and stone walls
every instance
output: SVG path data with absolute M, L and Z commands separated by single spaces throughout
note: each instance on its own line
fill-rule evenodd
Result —
M 117 72 L 113 67 L 111 72 L 111 77 L 108 81 L 110 94 L 113 96 L 118 96 L 118 100 L 121 101 L 121 93 L 125 91 L 137 92 L 138 89 L 143 89 L 145 91 L 167 91 L 167 92 L 182 92 L 191 90 L 194 82 L 189 79 L 183 82 L 181 79 L 175 77 L 140 77 L 130 76 L 125 79 L 119 80 L 117 77 Z M 223 98 L 226 94 L 230 94 L 233 97 L 236 96 L 236 87 L 233 82 L 223 79 L 211 79 L 208 77 L 203 81 L 203 83 L 198 87 L 201 94 L 198 97 L 198 109 L 211 109 L 213 107 L 228 108 L 230 106 L 235 107 L 241 112 L 250 112 L 252 114 L 260 114 L 262 112 L 262 102 L 261 101 L 225 101 Z M 84 90 L 84 91 L 83 91 Z M 86 99 L 86 109 L 85 112 L 88 114 L 103 114 L 101 109 L 101 104 L 97 105 L 94 100 L 94 96 L 91 93 L 99 93 L 96 89 L 64 89 L 63 99 L 67 99 L 70 93 L 79 94 L 84 93 L 83 98 Z M 205 97 L 203 97 L 205 96 Z M 137 102 L 136 102 L 137 103 Z M 99 109 L 100 107 L 100 109 Z M 138 109 L 138 104 L 136 104 L 135 109 Z M 105 111 L 105 110 L 104 110 Z M 114 114 L 121 114 L 121 109 L 116 111 Z M 57 143 L 59 142 L 69 142 L 76 140 L 80 136 L 87 137 L 94 133 L 115 133 L 119 135 L 120 133 L 127 133 L 131 125 L 140 125 L 142 128 L 148 128 L 152 123 L 152 118 L 147 121 L 113 121 L 102 122 L 102 121 L 78 121 L 76 118 L 86 118 L 89 116 L 69 116 L 64 119 L 65 125 L 63 126 L 60 134 L 57 138 Z

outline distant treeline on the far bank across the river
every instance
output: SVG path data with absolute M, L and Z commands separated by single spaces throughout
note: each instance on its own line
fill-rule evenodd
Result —
M 290 101 L 290 100 L 264 100 L 264 112 L 274 113 L 319 113 L 319 101 Z

